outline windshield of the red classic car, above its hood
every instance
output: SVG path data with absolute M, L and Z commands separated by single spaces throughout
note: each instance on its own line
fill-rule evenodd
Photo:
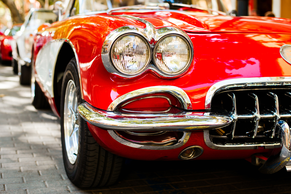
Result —
M 226 4 L 230 0 L 75 0 L 71 16 L 86 12 L 104 11 L 108 9 L 117 10 L 120 7 L 126 9 L 171 9 L 181 11 L 213 10 L 228 12 Z M 188 5 L 185 7 L 185 5 Z M 152 7 L 152 8 L 151 8 Z M 184 7 L 184 8 L 183 8 Z M 191 9 L 193 8 L 193 9 Z

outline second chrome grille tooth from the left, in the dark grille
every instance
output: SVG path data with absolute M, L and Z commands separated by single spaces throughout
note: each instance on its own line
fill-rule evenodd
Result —
M 258 126 L 259 126 L 259 121 L 261 119 L 260 116 L 260 110 L 259 110 L 259 100 L 258 100 L 258 96 L 253 94 L 253 93 L 249 93 L 249 96 L 251 96 L 254 100 L 254 106 L 253 106 L 253 110 L 249 110 L 249 112 L 251 112 L 252 116 L 253 116 L 253 121 L 255 123 L 253 130 L 246 132 L 246 135 L 251 137 L 251 138 L 255 138 L 255 136 L 257 136 L 257 132 L 258 132 Z

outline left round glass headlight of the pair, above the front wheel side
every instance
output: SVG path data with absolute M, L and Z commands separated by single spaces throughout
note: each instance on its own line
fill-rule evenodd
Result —
M 150 61 L 150 46 L 138 35 L 124 35 L 112 46 L 111 60 L 121 73 L 126 75 L 140 73 Z

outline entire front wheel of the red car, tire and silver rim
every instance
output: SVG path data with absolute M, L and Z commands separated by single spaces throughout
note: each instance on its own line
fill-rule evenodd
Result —
M 81 99 L 76 59 L 66 67 L 61 92 L 61 140 L 68 178 L 76 186 L 89 188 L 116 182 L 123 159 L 104 150 L 79 116 Z

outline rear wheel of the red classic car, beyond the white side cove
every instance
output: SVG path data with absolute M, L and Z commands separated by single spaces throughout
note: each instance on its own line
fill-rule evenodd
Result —
M 35 81 L 33 76 L 33 68 L 31 68 L 31 93 L 34 93 L 34 97 L 32 97 L 32 105 L 36 109 L 49 109 L 49 103 L 47 102 L 47 98 L 45 97 L 45 94 L 43 94 L 42 90 L 40 89 L 40 86 Z M 32 90 L 34 88 L 34 91 Z M 33 95 L 32 95 L 33 96 Z

